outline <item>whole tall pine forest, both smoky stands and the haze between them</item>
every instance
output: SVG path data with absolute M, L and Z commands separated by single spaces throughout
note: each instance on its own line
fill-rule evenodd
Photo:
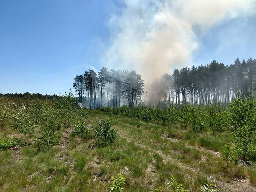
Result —
M 206 66 L 188 67 L 174 70 L 172 75 L 166 73 L 159 82 L 144 91 L 144 82 L 135 71 L 110 71 L 103 67 L 98 73 L 89 69 L 84 75 L 77 75 L 73 87 L 80 102 L 87 107 L 111 108 L 138 103 L 159 105 L 160 102 L 176 104 L 212 103 L 227 104 L 241 95 L 246 97 L 256 90 L 256 59 L 249 58 L 242 62 L 237 58 L 232 65 L 216 61 Z M 144 94 L 145 93 L 145 94 Z M 142 96 L 149 101 L 142 101 Z M 153 95 L 156 101 L 150 100 Z

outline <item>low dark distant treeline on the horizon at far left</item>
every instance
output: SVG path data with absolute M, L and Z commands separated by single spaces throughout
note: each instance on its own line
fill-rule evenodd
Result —
M 29 93 L 29 92 L 25 92 L 25 93 L 7 93 L 7 94 L 2 94 L 0 93 L 0 98 L 1 97 L 5 97 L 5 98 L 9 98 L 9 99 L 40 99 L 40 100 L 53 100 L 58 98 L 59 96 L 56 94 L 53 95 L 42 95 L 40 93 Z

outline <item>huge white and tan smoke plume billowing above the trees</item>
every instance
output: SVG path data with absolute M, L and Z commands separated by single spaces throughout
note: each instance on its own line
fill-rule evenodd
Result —
M 244 17 L 256 0 L 124 0 L 109 20 L 107 67 L 137 70 L 152 84 L 174 68 L 190 66 L 198 38 L 212 26 Z

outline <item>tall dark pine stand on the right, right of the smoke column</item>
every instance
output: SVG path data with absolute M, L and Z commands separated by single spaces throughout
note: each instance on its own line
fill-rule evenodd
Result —
M 158 92 L 160 101 L 208 105 L 228 103 L 237 97 L 253 96 L 256 90 L 256 59 L 249 58 L 227 66 L 212 61 L 209 65 L 176 69 L 173 75 L 165 74 Z

